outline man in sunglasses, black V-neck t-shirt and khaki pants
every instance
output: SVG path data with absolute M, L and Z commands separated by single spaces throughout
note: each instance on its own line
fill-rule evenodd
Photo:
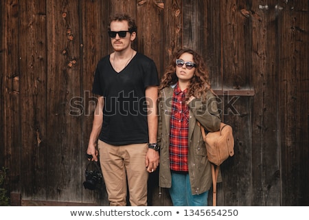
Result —
M 87 154 L 100 164 L 110 206 L 147 206 L 148 173 L 159 166 L 157 67 L 133 50 L 135 21 L 116 14 L 108 34 L 114 52 L 102 58 L 93 81 L 98 102 Z M 98 140 L 98 150 L 95 148 Z

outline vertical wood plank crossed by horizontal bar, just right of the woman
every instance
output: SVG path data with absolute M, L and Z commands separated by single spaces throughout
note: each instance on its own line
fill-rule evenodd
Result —
M 216 85 L 218 88 L 242 89 L 250 85 L 247 74 L 249 61 L 245 59 L 250 54 L 250 48 L 247 46 L 249 39 L 244 34 L 249 32 L 250 26 L 249 19 L 241 13 L 245 7 L 245 1 L 220 1 L 222 69 L 221 81 L 217 81 Z M 233 127 L 236 152 L 229 162 L 222 166 L 224 195 L 218 195 L 218 203 L 221 202 L 225 206 L 244 206 L 251 202 L 251 188 L 242 187 L 249 186 L 251 181 L 249 108 L 249 98 L 229 94 L 220 98 L 221 119 Z

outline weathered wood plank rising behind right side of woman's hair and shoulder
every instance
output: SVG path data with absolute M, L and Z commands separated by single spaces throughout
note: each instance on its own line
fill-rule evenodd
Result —
M 209 70 L 209 77 L 212 88 L 220 88 L 222 85 L 221 69 L 221 17 L 218 13 L 221 1 L 196 1 L 196 50 L 199 52 Z M 217 95 L 221 95 L 216 92 Z M 222 97 L 220 97 L 222 98 Z M 218 99 L 218 108 L 224 106 L 224 99 Z M 221 171 L 223 169 L 221 168 Z M 222 172 L 221 172 L 222 173 Z M 222 173 L 222 176 L 224 174 Z M 217 184 L 216 203 L 217 206 L 224 204 L 223 184 Z M 213 204 L 213 188 L 209 190 L 208 205 Z

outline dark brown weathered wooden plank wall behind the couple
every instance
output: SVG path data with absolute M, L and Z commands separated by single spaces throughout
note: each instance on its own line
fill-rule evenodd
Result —
M 235 134 L 218 206 L 308 206 L 308 0 L 2 0 L 0 166 L 12 204 L 108 205 L 82 181 L 93 73 L 115 12 L 136 19 L 134 47 L 160 76 L 179 48 L 203 54 Z M 170 206 L 157 177 L 149 203 Z

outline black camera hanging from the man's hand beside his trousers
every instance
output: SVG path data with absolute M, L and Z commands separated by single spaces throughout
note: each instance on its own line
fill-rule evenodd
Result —
M 100 168 L 100 164 L 95 161 L 89 162 L 86 170 L 85 170 L 86 181 L 82 184 L 84 188 L 89 190 L 95 190 L 100 184 L 103 182 L 102 178 L 102 170 Z

